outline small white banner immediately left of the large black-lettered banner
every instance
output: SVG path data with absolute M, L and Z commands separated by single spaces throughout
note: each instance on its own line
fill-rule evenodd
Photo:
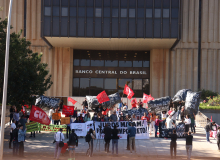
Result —
M 94 130 L 93 121 L 88 121 L 86 123 L 70 124 L 70 129 L 74 129 L 77 136 L 86 136 L 90 128 Z

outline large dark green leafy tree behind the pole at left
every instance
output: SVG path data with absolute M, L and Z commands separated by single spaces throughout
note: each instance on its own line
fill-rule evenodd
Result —
M 0 102 L 3 95 L 7 19 L 0 19 Z M 11 27 L 12 28 L 12 27 Z M 53 82 L 47 64 L 41 63 L 42 54 L 30 50 L 31 42 L 20 37 L 21 32 L 10 35 L 7 103 L 20 107 L 33 104 L 35 95 L 43 95 Z

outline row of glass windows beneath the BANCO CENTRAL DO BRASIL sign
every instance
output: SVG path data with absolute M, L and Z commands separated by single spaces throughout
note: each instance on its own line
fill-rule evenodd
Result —
M 149 79 L 73 78 L 73 96 L 95 96 L 103 90 L 108 95 L 119 92 L 122 96 L 125 84 L 134 91 L 135 97 L 142 97 L 143 92 L 149 94 Z

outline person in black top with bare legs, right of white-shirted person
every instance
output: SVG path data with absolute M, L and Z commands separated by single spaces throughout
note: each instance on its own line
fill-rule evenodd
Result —
M 75 160 L 75 148 L 78 146 L 78 137 L 75 134 L 75 130 L 72 129 L 72 133 L 70 134 L 69 138 L 69 160 Z M 72 151 L 73 151 L 73 159 L 72 159 Z

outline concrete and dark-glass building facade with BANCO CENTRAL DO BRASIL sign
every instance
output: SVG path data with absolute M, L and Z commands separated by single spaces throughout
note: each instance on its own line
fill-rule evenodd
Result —
M 8 5 L 0 1 L 2 19 Z M 46 96 L 122 94 L 124 84 L 135 97 L 198 91 L 198 83 L 220 92 L 218 0 L 16 0 L 11 24 L 48 63 Z

